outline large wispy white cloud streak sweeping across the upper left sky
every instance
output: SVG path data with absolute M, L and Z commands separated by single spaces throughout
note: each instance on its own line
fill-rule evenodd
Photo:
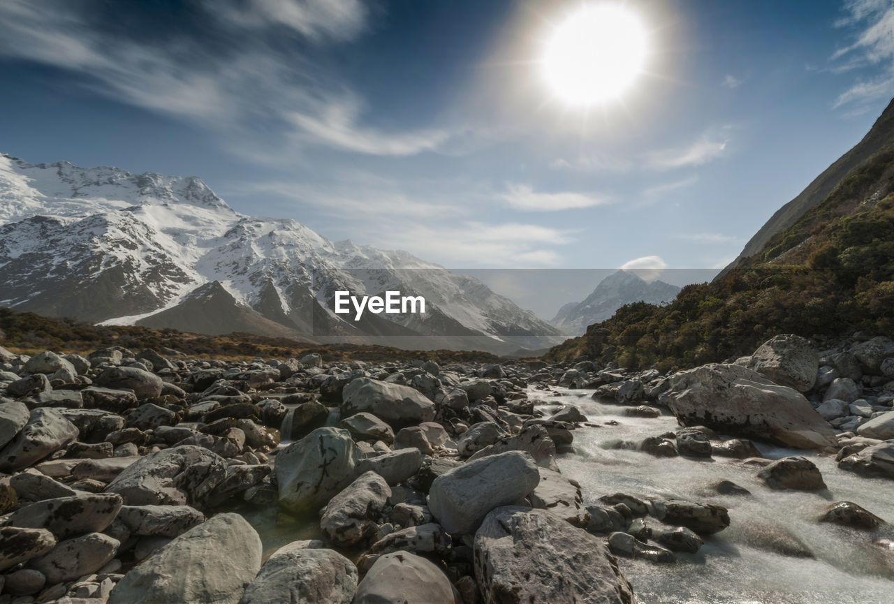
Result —
M 367 27 L 366 5 L 206 0 L 200 34 L 170 28 L 150 39 L 103 27 L 94 2 L 9 0 L 0 3 L 0 59 L 71 71 L 99 94 L 206 127 L 258 161 L 288 161 L 283 155 L 311 146 L 366 155 L 433 151 L 455 133 L 364 124 L 355 92 L 283 44 L 296 34 L 311 46 L 354 39 Z

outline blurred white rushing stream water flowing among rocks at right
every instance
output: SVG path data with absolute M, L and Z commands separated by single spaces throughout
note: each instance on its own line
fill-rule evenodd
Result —
M 814 456 L 755 443 L 765 457 L 810 457 L 829 487 L 825 497 L 799 491 L 772 491 L 755 478 L 757 468 L 731 459 L 696 461 L 659 458 L 629 449 L 605 449 L 611 441 L 639 441 L 678 427 L 671 415 L 656 419 L 626 417 L 624 407 L 602 405 L 593 390 L 563 390 L 551 396 L 531 390 L 544 405 L 573 404 L 594 424 L 574 432 L 576 453 L 561 456 L 563 474 L 580 482 L 587 504 L 603 495 L 624 492 L 643 499 L 673 497 L 714 503 L 730 510 L 730 527 L 705 538 L 695 555 L 678 554 L 676 564 L 620 558 L 621 569 L 637 597 L 648 603 L 691 604 L 891 604 L 894 602 L 894 552 L 873 545 L 884 533 L 867 533 L 816 518 L 832 501 L 853 501 L 894 522 L 894 482 L 839 471 L 832 457 Z M 706 486 L 720 479 L 736 482 L 751 497 L 724 496 Z M 827 499 L 828 498 L 828 499 Z M 801 541 L 815 559 L 791 558 L 755 547 L 777 525 Z

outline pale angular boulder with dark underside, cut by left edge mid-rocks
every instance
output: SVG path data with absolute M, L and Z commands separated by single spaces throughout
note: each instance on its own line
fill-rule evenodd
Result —
M 32 409 L 28 423 L 0 450 L 0 470 L 31 466 L 77 438 L 78 428 L 56 409 Z

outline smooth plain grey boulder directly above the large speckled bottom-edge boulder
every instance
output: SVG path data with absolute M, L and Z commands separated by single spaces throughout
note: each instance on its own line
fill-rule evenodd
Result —
M 435 478 L 428 508 L 448 533 L 472 533 L 493 508 L 527 497 L 539 483 L 534 457 L 508 451 L 468 462 Z

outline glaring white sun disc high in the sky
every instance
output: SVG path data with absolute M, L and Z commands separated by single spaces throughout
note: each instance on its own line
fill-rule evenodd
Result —
M 620 4 L 587 4 L 554 26 L 540 65 L 553 96 L 586 107 L 620 97 L 643 71 L 647 53 L 636 13 Z

